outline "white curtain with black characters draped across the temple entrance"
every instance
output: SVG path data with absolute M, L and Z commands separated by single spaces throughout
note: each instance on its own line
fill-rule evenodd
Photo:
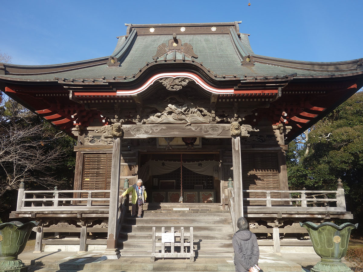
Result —
M 219 178 L 220 167 L 217 161 L 183 161 L 183 166 L 195 173 Z M 149 176 L 171 173 L 179 168 L 180 161 L 149 160 L 139 169 L 139 177 L 147 180 Z

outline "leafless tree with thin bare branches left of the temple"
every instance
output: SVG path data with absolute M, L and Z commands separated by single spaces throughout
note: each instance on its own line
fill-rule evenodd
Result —
M 59 135 L 59 133 L 57 133 Z M 44 141 L 33 141 L 42 137 L 42 125 L 0 125 L 0 197 L 7 190 L 16 189 L 21 178 L 26 182 L 51 187 L 60 184 L 54 169 L 65 158 L 59 148 L 49 148 Z

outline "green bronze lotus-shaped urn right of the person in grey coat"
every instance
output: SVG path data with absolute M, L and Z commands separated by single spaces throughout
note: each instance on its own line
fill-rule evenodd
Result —
M 321 261 L 311 268 L 311 272 L 352 271 L 342 263 L 342 257 L 347 254 L 350 232 L 357 228 L 358 224 L 344 223 L 338 226 L 331 222 L 320 225 L 300 222 L 300 226 L 309 232 L 314 250 L 321 258 Z

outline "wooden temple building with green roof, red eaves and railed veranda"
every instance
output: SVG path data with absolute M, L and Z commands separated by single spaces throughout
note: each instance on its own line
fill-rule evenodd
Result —
M 148 256 L 155 226 L 193 227 L 197 255 L 229 256 L 240 216 L 260 248 L 301 251 L 299 221 L 352 218 L 340 181 L 289 191 L 285 152 L 363 86 L 363 59 L 258 55 L 240 23 L 127 24 L 106 57 L 0 63 L 2 91 L 77 139 L 73 190 L 20 185 L 11 217 L 41 221 L 36 251 Z M 139 178 L 148 197 L 135 219 L 120 195 Z

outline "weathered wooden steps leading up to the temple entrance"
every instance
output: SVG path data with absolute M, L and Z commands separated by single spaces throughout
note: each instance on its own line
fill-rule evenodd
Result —
M 188 207 L 190 210 L 173 210 Z M 230 257 L 233 255 L 233 227 L 229 211 L 221 210 L 216 203 L 148 203 L 144 205 L 143 218 L 126 215 L 118 246 L 121 256 L 150 256 L 152 227 L 161 232 L 165 227 L 175 231 L 193 227 L 193 243 L 196 257 Z M 158 247 L 156 248 L 158 249 Z

